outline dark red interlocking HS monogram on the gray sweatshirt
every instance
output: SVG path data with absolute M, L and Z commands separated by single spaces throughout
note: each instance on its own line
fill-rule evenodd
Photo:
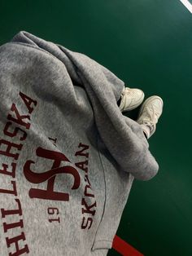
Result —
M 47 159 L 52 159 L 54 161 L 53 166 L 50 170 L 46 170 L 43 173 L 35 173 L 30 169 L 31 164 L 35 162 L 28 160 L 24 164 L 24 176 L 30 183 L 43 183 L 47 180 L 46 190 L 31 188 L 28 195 L 31 198 L 41 198 L 45 200 L 55 200 L 55 201 L 69 201 L 69 194 L 64 192 L 55 192 L 54 184 L 56 174 L 72 174 L 74 178 L 74 183 L 72 189 L 77 189 L 80 186 L 81 178 L 80 174 L 76 168 L 72 166 L 60 166 L 61 161 L 71 162 L 68 160 L 62 152 L 56 152 L 48 150 L 45 148 L 38 147 L 36 149 L 37 157 L 44 157 Z

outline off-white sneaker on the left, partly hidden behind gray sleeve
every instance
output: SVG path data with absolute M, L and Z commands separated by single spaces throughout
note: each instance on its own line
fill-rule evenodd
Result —
M 144 92 L 139 89 L 124 87 L 121 94 L 120 111 L 128 111 L 137 108 L 144 99 Z

